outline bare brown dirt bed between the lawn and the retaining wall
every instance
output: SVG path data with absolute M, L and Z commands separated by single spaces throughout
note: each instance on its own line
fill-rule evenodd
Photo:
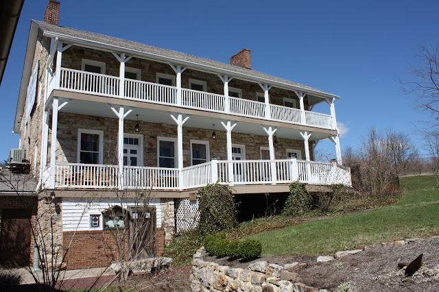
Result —
M 405 276 L 404 269 L 398 269 L 397 263 L 410 263 L 419 254 L 423 254 L 422 267 L 412 276 Z M 306 266 L 296 266 L 298 278 L 294 282 L 329 291 L 336 291 L 342 283 L 354 289 L 351 291 L 439 291 L 439 237 L 405 245 L 379 245 L 328 263 L 318 263 L 317 256 L 304 254 L 266 256 L 247 263 L 205 254 L 204 260 L 243 269 L 257 260 L 278 265 L 306 263 Z

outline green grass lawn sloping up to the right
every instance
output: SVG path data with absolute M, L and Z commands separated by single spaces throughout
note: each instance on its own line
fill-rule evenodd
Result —
M 436 176 L 401 178 L 403 197 L 353 215 L 302 223 L 250 236 L 262 242 L 264 255 L 329 254 L 372 243 L 439 234 L 439 191 Z

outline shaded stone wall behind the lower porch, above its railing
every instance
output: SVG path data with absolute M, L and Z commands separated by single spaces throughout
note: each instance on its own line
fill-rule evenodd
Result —
M 103 105 L 104 106 L 104 105 Z M 177 138 L 177 126 L 165 123 L 149 123 L 139 121 L 140 132 L 134 132 L 137 121 L 125 121 L 126 134 L 143 135 L 143 166 L 157 166 L 157 137 Z M 58 114 L 58 143 L 56 151 L 58 162 L 78 162 L 78 129 L 104 131 L 104 164 L 117 165 L 117 119 L 94 117 L 81 114 L 60 112 Z M 183 126 L 183 163 L 184 167 L 191 165 L 191 140 L 209 141 L 210 155 L 218 160 L 227 159 L 226 132 L 217 130 L 217 138 L 212 139 L 212 130 Z M 303 141 L 287 138 L 277 138 L 275 158 L 287 158 L 287 149 L 301 151 L 305 159 Z M 268 136 L 232 132 L 232 143 L 246 145 L 246 159 L 260 159 L 261 147 L 268 147 Z M 309 143 L 309 149 L 311 143 Z M 312 151 L 311 160 L 313 160 Z

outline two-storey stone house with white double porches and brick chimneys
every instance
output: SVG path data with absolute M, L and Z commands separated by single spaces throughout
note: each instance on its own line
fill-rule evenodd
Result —
M 252 70 L 249 49 L 225 64 L 59 26 L 57 1 L 46 16 L 31 23 L 14 132 L 38 190 L 58 199 L 62 247 L 76 236 L 70 267 L 104 264 L 97 237 L 109 243 L 118 223 L 108 210 L 150 219 L 152 256 L 196 223 L 206 184 L 241 194 L 351 184 L 337 95 Z M 320 103 L 331 114 L 313 112 Z M 337 162 L 313 161 L 322 139 Z M 137 212 L 139 198 L 150 211 Z

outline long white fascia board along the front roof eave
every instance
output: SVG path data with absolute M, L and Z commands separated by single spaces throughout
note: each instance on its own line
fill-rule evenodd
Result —
M 287 88 L 289 90 L 300 90 L 300 91 L 303 91 L 305 93 L 311 93 L 312 95 L 314 95 L 316 97 L 322 97 L 322 98 L 329 97 L 329 98 L 340 99 L 340 96 L 332 95 L 331 93 L 322 93 L 318 90 L 312 90 L 309 88 L 302 88 L 300 86 L 293 86 L 291 84 L 285 84 L 283 82 L 275 82 L 275 81 L 271 81 L 271 80 L 268 81 L 266 79 L 263 79 L 260 77 L 254 77 L 254 76 L 251 76 L 251 75 L 248 75 L 245 73 L 228 71 L 228 70 L 219 69 L 219 68 L 216 68 L 213 66 L 188 62 L 188 61 L 179 60 L 176 58 L 165 57 L 165 56 L 157 55 L 154 53 L 146 53 L 144 51 L 137 51 L 134 49 L 126 49 L 123 47 L 117 47 L 115 45 L 104 44 L 103 42 L 95 42 L 92 40 L 86 40 L 84 38 L 75 38 L 72 36 L 66 36 L 64 34 L 56 34 L 54 32 L 44 32 L 44 36 L 48 36 L 50 38 L 58 37 L 59 40 L 64 40 L 64 42 L 67 42 L 67 43 L 74 43 L 74 44 L 78 44 L 78 45 L 88 45 L 90 47 L 95 47 L 98 49 L 108 49 L 109 51 L 120 51 L 120 52 L 127 53 L 130 55 L 137 55 L 137 56 L 149 57 L 149 58 L 152 58 L 155 60 L 161 60 L 163 62 L 178 63 L 178 64 L 181 64 L 183 66 L 191 67 L 193 69 L 202 69 L 204 71 L 213 72 L 215 74 L 219 73 L 222 75 L 229 75 L 229 76 L 233 76 L 233 77 L 238 77 L 239 79 L 250 81 L 250 82 L 269 83 L 269 84 L 274 85 L 276 87 Z

